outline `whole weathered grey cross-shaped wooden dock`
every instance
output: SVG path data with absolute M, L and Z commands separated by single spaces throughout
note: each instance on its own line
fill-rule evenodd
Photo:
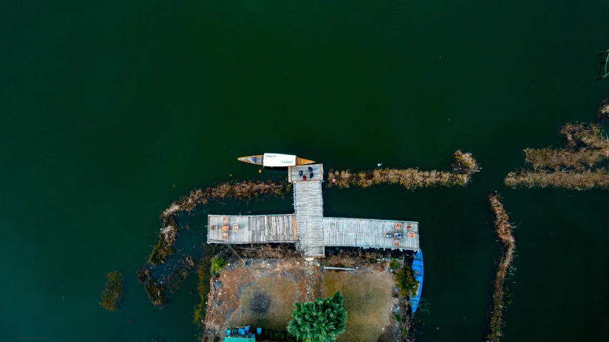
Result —
M 293 183 L 295 213 L 209 215 L 207 242 L 297 243 L 305 258 L 323 258 L 326 246 L 418 251 L 418 222 L 323 217 L 323 164 L 290 166 L 288 180 Z

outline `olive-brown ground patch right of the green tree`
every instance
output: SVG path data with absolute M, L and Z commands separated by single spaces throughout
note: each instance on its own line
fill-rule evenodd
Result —
M 341 291 L 347 310 L 345 332 L 336 341 L 396 341 L 398 325 L 392 310 L 398 298 L 392 298 L 394 284 L 391 273 L 380 265 L 360 266 L 353 274 L 327 270 L 323 296 Z

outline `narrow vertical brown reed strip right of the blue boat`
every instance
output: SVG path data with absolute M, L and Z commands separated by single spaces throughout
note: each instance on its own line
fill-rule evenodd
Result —
M 510 218 L 503 208 L 499 195 L 493 193 L 488 196 L 488 199 L 490 201 L 490 208 L 495 214 L 495 233 L 497 233 L 505 248 L 497 267 L 497 275 L 495 276 L 493 307 L 490 311 L 490 331 L 486 336 L 488 341 L 496 342 L 501 337 L 501 326 L 503 325 L 503 281 L 505 281 L 505 276 L 507 276 L 514 258 L 515 241 L 512 236 Z

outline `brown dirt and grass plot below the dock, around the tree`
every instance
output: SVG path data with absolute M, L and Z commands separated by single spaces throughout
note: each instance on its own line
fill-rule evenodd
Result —
M 325 259 L 307 265 L 297 253 L 283 258 L 225 258 L 226 268 L 211 279 L 203 341 L 214 341 L 224 336 L 226 328 L 245 324 L 263 331 L 286 331 L 293 303 L 332 296 L 338 290 L 345 296 L 348 318 L 346 332 L 337 341 L 377 341 L 383 333 L 387 335 L 388 329 L 392 335 L 386 341 L 396 341 L 400 333 L 393 311 L 399 303 L 393 296 L 389 262 L 376 263 L 375 258 L 370 264 L 368 258 L 347 258 L 343 255 L 334 261 L 358 265 L 353 274 L 330 270 L 321 273 L 316 262 L 323 265 Z M 309 272 L 311 267 L 313 273 Z M 313 293 L 311 298 L 307 298 L 308 292 Z

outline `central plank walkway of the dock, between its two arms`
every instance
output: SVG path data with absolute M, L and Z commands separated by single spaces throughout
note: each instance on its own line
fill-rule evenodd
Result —
M 321 166 L 318 167 L 321 170 Z M 303 256 L 323 258 L 323 198 L 320 180 L 294 182 L 294 211 Z

